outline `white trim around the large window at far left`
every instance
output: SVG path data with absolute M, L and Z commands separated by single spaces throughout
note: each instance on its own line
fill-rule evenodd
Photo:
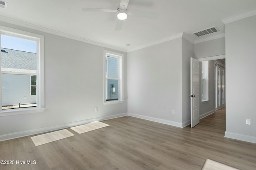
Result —
M 38 113 L 44 111 L 44 36 L 38 35 L 35 33 L 30 33 L 26 31 L 21 31 L 18 29 L 13 29 L 9 27 L 4 27 L 0 25 L 0 34 L 9 35 L 18 38 L 28 39 L 32 41 L 36 41 L 36 54 L 37 54 L 37 85 L 39 88 L 37 89 L 36 95 L 36 107 L 30 108 L 17 108 L 17 109 L 4 109 L 0 107 L 0 117 L 1 116 L 9 116 L 9 115 L 19 115 L 26 113 Z M 1 56 L 1 54 L 0 54 Z M 2 70 L 6 71 L 6 70 Z M 15 74 L 15 73 L 14 73 Z M 22 73 L 23 74 L 23 73 Z M 0 88 L 2 88 L 2 74 L 0 74 Z M 38 86 L 37 86 L 38 87 Z M 0 103 L 2 105 L 2 90 L 0 90 Z

